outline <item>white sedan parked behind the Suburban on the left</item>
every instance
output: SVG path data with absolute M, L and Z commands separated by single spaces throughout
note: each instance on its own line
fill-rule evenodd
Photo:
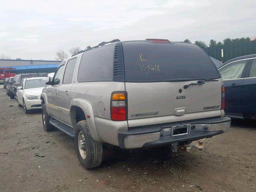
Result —
M 16 99 L 19 107 L 24 107 L 25 113 L 32 109 L 41 109 L 40 95 L 46 86 L 46 77 L 24 78 L 17 87 Z

